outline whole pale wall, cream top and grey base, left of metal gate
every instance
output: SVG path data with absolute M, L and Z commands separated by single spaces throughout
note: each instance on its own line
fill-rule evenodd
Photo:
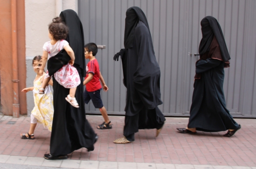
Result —
M 77 0 L 25 0 L 27 87 L 33 86 L 35 77 L 32 68 L 32 59 L 36 55 L 42 55 L 43 44 L 50 40 L 48 38 L 48 25 L 54 17 L 59 16 L 59 14 L 56 14 L 56 10 L 58 10 L 58 6 L 56 6 L 57 1 L 62 1 L 62 11 L 73 9 L 78 13 Z M 31 114 L 33 108 L 33 93 L 28 92 L 28 116 Z

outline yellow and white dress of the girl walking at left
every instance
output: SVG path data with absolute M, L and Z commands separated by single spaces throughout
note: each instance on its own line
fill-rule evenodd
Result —
M 34 109 L 31 114 L 38 120 L 38 123 L 43 124 L 45 128 L 52 131 L 52 124 L 54 118 L 54 101 L 53 94 L 50 86 L 45 88 L 44 94 L 38 94 L 39 89 L 42 87 L 40 82 L 41 76 L 38 80 L 34 81 Z

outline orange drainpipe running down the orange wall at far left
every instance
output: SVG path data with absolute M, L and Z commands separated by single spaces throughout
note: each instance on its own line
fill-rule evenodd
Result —
M 19 104 L 19 80 L 18 80 L 18 59 L 17 59 L 17 9 L 16 0 L 11 1 L 12 15 L 12 55 L 13 55 L 13 118 L 20 115 Z

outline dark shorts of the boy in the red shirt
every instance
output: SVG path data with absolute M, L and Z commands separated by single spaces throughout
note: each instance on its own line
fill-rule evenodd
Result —
M 94 92 L 88 92 L 86 89 L 84 91 L 84 103 L 88 104 L 90 100 L 92 100 L 95 108 L 102 108 L 103 103 L 101 100 L 101 90 L 96 90 Z

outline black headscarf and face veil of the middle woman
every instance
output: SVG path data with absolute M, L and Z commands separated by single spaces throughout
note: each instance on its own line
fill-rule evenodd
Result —
M 139 19 L 147 26 L 149 31 L 148 20 L 145 14 L 143 13 L 143 11 L 141 10 L 141 8 L 137 6 L 133 6 L 126 11 L 125 30 L 124 30 L 125 49 L 133 47 L 134 31 L 135 31 L 136 25 L 138 24 Z

